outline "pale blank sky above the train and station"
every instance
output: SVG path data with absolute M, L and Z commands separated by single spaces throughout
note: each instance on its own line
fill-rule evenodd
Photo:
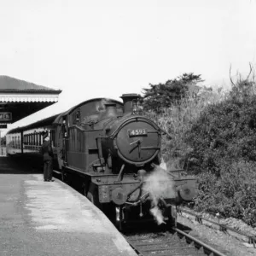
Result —
M 256 0 L 0 0 L 0 75 L 61 89 L 9 128 L 183 73 L 229 86 L 256 67 Z

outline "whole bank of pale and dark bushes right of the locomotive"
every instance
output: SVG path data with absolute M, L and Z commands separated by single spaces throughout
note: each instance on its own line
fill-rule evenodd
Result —
M 169 168 L 185 168 L 199 178 L 195 210 L 255 224 L 255 81 L 239 76 L 231 83 L 227 94 L 201 87 L 147 114 L 166 131 L 163 158 Z

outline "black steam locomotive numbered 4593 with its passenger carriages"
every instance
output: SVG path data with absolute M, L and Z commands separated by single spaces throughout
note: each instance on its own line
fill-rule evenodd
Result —
M 124 94 L 123 102 L 91 99 L 7 134 L 7 153 L 36 157 L 49 133 L 54 169 L 67 183 L 79 183 L 87 198 L 119 229 L 131 220 L 152 218 L 152 196 L 144 189 L 147 177 L 160 165 L 161 131 L 140 113 L 139 95 Z M 166 222 L 176 223 L 176 206 L 191 201 L 196 180 L 165 171 L 174 194 L 157 202 Z M 161 181 L 168 184 L 169 179 Z M 170 183 L 171 186 L 171 183 Z

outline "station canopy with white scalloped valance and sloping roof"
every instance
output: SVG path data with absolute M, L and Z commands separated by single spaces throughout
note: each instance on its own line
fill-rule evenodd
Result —
M 61 90 L 0 76 L 0 128 L 58 102 Z

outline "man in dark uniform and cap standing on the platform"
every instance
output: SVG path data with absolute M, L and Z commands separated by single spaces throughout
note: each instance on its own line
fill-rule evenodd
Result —
M 54 181 L 52 179 L 52 170 L 53 170 L 53 150 L 49 141 L 48 133 L 44 134 L 43 136 L 44 143 L 41 147 L 41 154 L 43 154 L 44 158 L 44 181 L 50 182 Z

